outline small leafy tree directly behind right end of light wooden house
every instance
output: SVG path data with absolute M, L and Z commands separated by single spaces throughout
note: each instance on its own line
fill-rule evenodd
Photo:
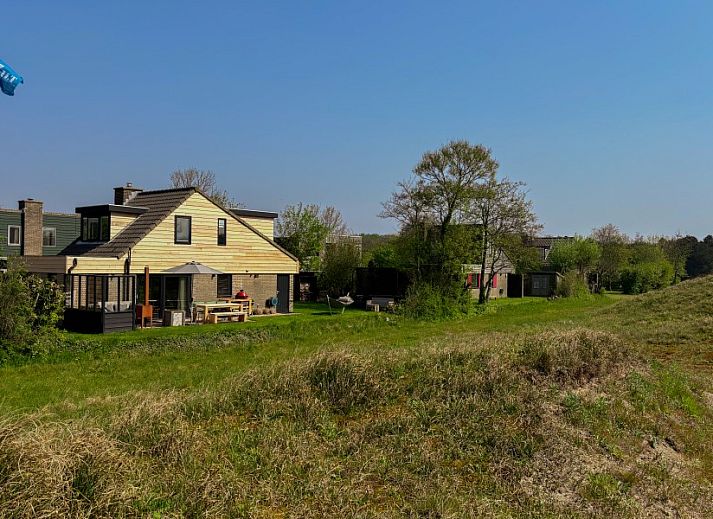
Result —
M 319 270 L 319 255 L 329 229 L 319 217 L 318 205 L 288 205 L 280 214 L 275 231 L 282 246 L 299 259 L 302 270 Z

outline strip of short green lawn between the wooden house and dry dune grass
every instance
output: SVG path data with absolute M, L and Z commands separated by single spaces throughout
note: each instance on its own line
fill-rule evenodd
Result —
M 249 323 L 159 328 L 103 336 L 68 334 L 70 351 L 49 362 L 0 368 L 0 413 L 44 408 L 82 414 L 131 391 L 203 387 L 256 366 L 344 347 L 378 352 L 413 347 L 444 334 L 536 329 L 591 320 L 617 301 L 503 299 L 489 313 L 438 323 L 348 308 L 298 304 L 295 315 Z

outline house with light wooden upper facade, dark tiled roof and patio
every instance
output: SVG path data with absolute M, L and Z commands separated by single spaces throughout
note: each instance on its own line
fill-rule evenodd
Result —
M 76 211 L 74 242 L 56 256 L 25 255 L 31 272 L 65 277 L 71 307 L 97 307 L 96 293 L 112 292 L 115 308 L 124 308 L 133 293 L 143 301 L 148 285 L 158 317 L 165 310 L 189 315 L 193 302 L 240 289 L 260 307 L 276 302 L 279 313 L 292 310 L 291 277 L 299 262 L 273 239 L 275 213 L 224 208 L 192 187 L 144 191 L 131 184 L 114 189 L 113 204 Z M 211 273 L 181 271 L 194 262 Z

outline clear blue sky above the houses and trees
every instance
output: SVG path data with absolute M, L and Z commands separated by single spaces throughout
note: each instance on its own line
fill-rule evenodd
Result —
M 421 154 L 492 148 L 545 231 L 713 233 L 713 3 L 3 2 L 0 206 L 213 170 L 357 232 Z

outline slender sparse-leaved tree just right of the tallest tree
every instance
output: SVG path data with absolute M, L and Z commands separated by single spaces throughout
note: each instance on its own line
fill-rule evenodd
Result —
M 467 214 L 478 229 L 480 279 L 485 280 L 478 294 L 481 304 L 489 299 L 493 278 L 505 268 L 507 259 L 516 264 L 530 259 L 523 237 L 535 234 L 539 226 L 524 186 L 492 177 L 470 200 Z

